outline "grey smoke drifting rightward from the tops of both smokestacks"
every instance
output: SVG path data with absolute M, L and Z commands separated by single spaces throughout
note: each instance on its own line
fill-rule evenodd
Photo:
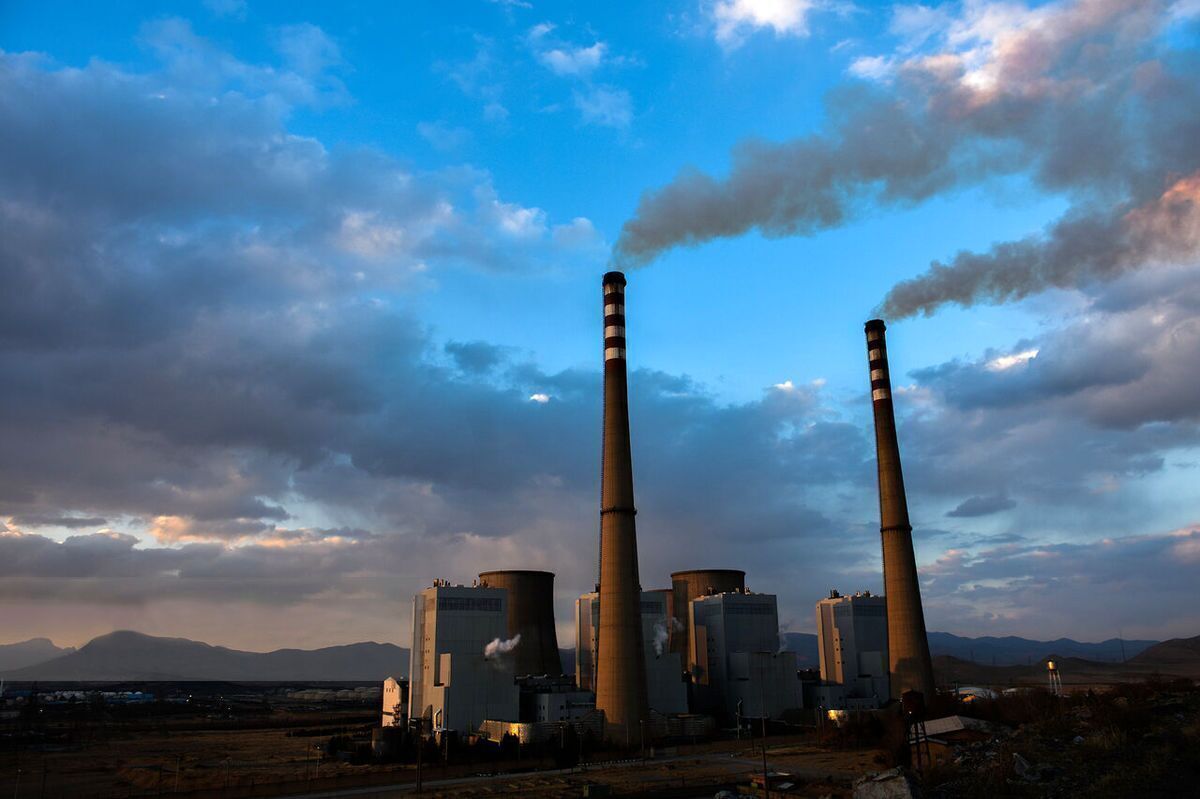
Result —
M 835 91 L 817 133 L 744 142 L 726 178 L 684 170 L 647 192 L 613 262 L 640 266 L 751 230 L 809 235 L 872 208 L 1022 174 L 1064 194 L 1070 212 L 1044 236 L 934 264 L 895 287 L 889 316 L 1003 302 L 1146 265 L 1138 245 L 1148 242 L 1126 211 L 1200 168 L 1200 83 L 1189 77 L 1200 48 L 1187 31 L 1164 36 L 1194 25 L 1195 10 L 1075 0 L 1002 11 L 965 4 L 935 34 L 937 49 L 856 62 L 852 72 L 890 83 Z M 1102 241 L 1118 252 L 1100 252 Z

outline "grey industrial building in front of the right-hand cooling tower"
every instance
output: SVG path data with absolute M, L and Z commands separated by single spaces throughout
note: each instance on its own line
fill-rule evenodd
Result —
M 692 710 L 779 719 L 800 707 L 796 653 L 779 650 L 773 594 L 730 591 L 689 603 Z

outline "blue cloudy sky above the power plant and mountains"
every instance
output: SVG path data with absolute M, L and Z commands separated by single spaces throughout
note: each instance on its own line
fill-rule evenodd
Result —
M 0 642 L 408 645 L 595 581 L 600 277 L 641 577 L 1200 633 L 1200 2 L 0 4 Z

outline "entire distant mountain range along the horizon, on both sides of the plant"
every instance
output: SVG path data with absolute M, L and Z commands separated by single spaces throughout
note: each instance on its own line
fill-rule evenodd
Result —
M 782 648 L 797 654 L 800 668 L 817 667 L 817 637 L 785 632 Z M 929 633 L 935 657 L 956 668 L 1034 666 L 1049 656 L 1093 663 L 1128 662 L 1134 671 L 1188 673 L 1200 663 L 1200 638 L 1084 643 L 1070 638 L 1031 641 L 1015 636 L 967 638 Z M 563 669 L 575 672 L 575 650 L 563 649 Z M 0 645 L 0 677 L 8 680 L 382 680 L 408 674 L 408 649 L 388 643 L 354 643 L 323 649 L 268 653 L 214 647 L 186 638 L 118 631 L 76 649 L 46 638 Z

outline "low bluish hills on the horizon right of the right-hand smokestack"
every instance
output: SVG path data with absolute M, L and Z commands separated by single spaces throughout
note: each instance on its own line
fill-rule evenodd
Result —
M 1050 655 L 1120 663 L 1156 643 L 1158 642 L 1121 638 L 1084 643 L 1070 638 L 1031 641 L 1016 636 L 966 638 L 949 632 L 929 633 L 929 650 L 934 656 L 950 655 L 985 666 L 1028 666 Z

